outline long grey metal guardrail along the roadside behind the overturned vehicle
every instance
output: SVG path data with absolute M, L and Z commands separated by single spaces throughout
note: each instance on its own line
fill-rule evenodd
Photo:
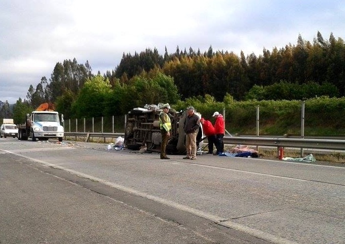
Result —
M 100 137 L 105 142 L 105 138 L 117 138 L 124 135 L 124 133 L 65 132 L 65 139 L 66 136 L 84 137 L 87 142 L 90 137 Z M 233 145 L 345 150 L 345 140 L 342 139 L 224 136 L 223 141 L 225 144 Z

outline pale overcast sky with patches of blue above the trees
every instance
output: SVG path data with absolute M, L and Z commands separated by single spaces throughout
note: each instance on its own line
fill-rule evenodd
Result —
M 24 100 L 64 60 L 104 74 L 146 48 L 259 56 L 317 31 L 345 39 L 344 0 L 0 0 L 0 100 Z

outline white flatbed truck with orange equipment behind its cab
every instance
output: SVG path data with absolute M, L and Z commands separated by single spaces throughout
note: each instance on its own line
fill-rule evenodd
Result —
M 18 124 L 18 140 L 58 138 L 62 142 L 64 126 L 60 124 L 59 113 L 54 110 L 52 104 L 43 103 L 31 114 L 26 114 L 25 123 Z M 64 122 L 63 115 L 61 122 Z

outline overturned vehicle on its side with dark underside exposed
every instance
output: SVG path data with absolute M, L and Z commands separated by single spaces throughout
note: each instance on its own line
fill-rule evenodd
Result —
M 125 146 L 131 150 L 139 150 L 146 145 L 148 152 L 160 152 L 162 136 L 159 127 L 159 114 L 162 109 L 158 107 L 135 108 L 128 112 L 126 118 Z M 196 113 L 199 118 L 201 115 Z M 168 113 L 172 122 L 172 130 L 166 152 L 169 154 L 185 154 L 186 140 L 183 124 L 186 112 L 176 112 L 170 109 Z M 200 126 L 197 134 L 197 147 L 202 146 L 203 129 Z

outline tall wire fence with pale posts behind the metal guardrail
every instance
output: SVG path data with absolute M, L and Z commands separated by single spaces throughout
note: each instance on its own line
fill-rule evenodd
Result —
M 311 109 L 302 102 L 284 108 L 251 105 L 236 110 L 223 109 L 223 115 L 230 135 L 345 136 L 345 108 L 335 113 L 328 110 L 327 107 Z M 210 120 L 214 124 L 214 118 Z M 124 133 L 125 123 L 126 115 L 123 115 L 68 119 L 64 127 L 66 132 Z

